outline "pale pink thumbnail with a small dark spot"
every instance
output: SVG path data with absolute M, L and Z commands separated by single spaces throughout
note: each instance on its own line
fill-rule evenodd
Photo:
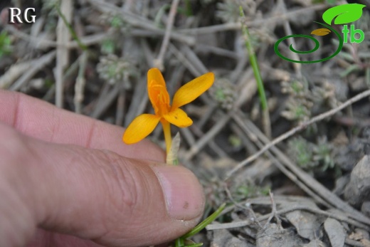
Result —
M 191 220 L 203 213 L 201 184 L 188 169 L 179 166 L 154 166 L 172 219 Z

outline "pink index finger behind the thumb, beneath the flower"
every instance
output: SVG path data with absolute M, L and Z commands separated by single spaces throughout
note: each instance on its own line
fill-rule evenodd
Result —
M 47 142 L 108 149 L 125 157 L 164 162 L 163 150 L 148 140 L 123 143 L 122 127 L 59 109 L 21 93 L 0 90 L 0 121 Z

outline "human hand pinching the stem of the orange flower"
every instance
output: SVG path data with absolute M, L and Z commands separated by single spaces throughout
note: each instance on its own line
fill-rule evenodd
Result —
M 0 90 L 0 246 L 148 246 L 194 227 L 194 174 L 122 132 Z

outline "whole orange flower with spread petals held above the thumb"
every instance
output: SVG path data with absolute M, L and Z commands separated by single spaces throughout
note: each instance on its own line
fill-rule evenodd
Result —
M 157 68 L 148 71 L 148 95 L 154 108 L 153 114 L 142 114 L 137 116 L 127 127 L 122 140 L 126 144 L 134 144 L 147 137 L 159 122 L 163 125 L 164 139 L 166 140 L 167 153 L 171 147 L 171 130 L 169 124 L 178 127 L 188 127 L 193 121 L 186 115 L 184 110 L 179 107 L 190 103 L 202 93 L 211 88 L 213 84 L 213 73 L 204 75 L 191 80 L 183 85 L 174 95 L 172 105 L 169 102 L 169 93 L 166 89 L 164 78 Z

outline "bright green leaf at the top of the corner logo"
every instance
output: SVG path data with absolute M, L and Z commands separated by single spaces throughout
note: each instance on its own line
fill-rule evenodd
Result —
M 346 24 L 352 21 L 360 19 L 362 16 L 362 9 L 366 5 L 364 4 L 343 4 L 339 6 L 332 7 L 322 14 L 322 19 L 328 23 L 332 24 L 334 19 L 334 24 Z

